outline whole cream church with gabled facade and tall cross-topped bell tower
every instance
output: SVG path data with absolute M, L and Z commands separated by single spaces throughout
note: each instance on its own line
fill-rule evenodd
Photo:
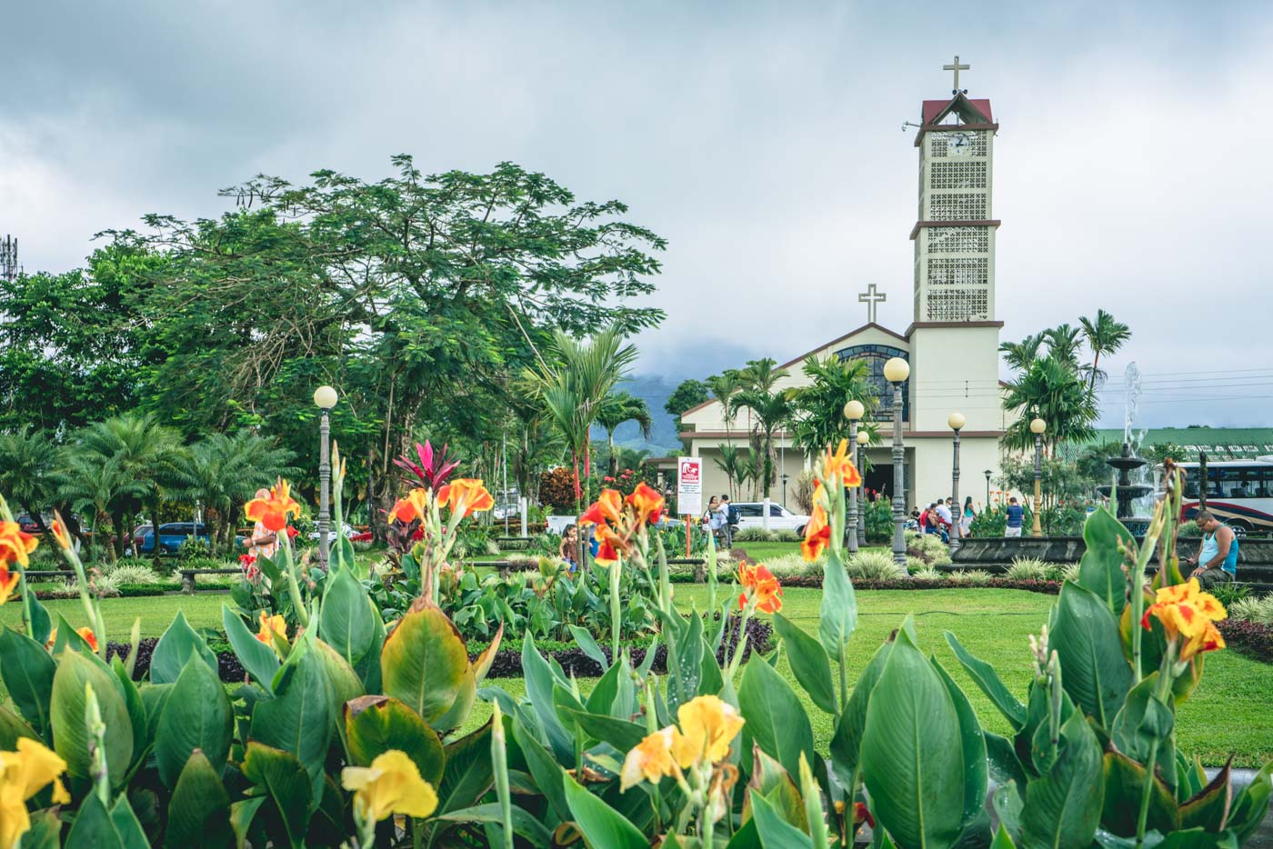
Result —
M 1006 425 L 999 382 L 999 331 L 994 317 L 994 241 L 999 221 L 992 206 L 994 122 L 990 102 L 970 99 L 959 88 L 960 65 L 951 97 L 924 101 L 915 136 L 919 154 L 919 211 L 910 239 L 914 242 L 914 317 L 908 327 L 890 328 L 875 321 L 876 305 L 885 299 L 871 284 L 859 295 L 867 304 L 867 323 L 811 351 L 782 363 L 789 375 L 775 388 L 803 386 L 801 367 L 808 356 L 864 360 L 880 403 L 869 419 L 878 424 L 878 439 L 867 449 L 873 470 L 868 489 L 892 496 L 892 386 L 883 364 L 900 356 L 910 364 L 903 383 L 903 437 L 905 440 L 906 509 L 951 494 L 952 412 L 965 417 L 960 432 L 960 500 L 971 495 L 985 502 L 985 472 L 999 479 L 999 437 Z M 900 238 L 900 234 L 899 234 Z M 689 453 L 703 457 L 704 490 L 729 490 L 719 466 L 721 446 L 745 449 L 750 432 L 747 410 L 726 423 L 718 401 L 701 403 L 681 416 L 681 439 Z M 789 434 L 775 437 L 778 482 L 770 498 L 788 503 L 796 476 L 806 458 L 793 448 Z M 750 500 L 750 493 L 743 500 Z M 796 509 L 794 500 L 791 500 Z

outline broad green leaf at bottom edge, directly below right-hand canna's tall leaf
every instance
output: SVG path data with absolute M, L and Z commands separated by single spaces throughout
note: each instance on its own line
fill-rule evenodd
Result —
M 1086 849 L 1101 821 L 1101 747 L 1081 713 L 1060 728 L 1057 761 L 1026 785 L 1021 810 L 1023 844 Z

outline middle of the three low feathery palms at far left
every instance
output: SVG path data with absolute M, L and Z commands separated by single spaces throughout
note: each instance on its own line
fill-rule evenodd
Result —
M 143 504 L 150 512 L 155 540 L 159 538 L 162 507 L 167 488 L 174 482 L 174 470 L 183 453 L 181 437 L 172 428 L 160 425 L 151 415 L 125 414 L 84 428 L 79 433 L 76 453 L 112 458 L 122 474 L 136 481 L 136 495 L 126 495 L 112 509 L 117 521 L 117 545 L 127 545 L 122 519 L 134 514 Z M 159 563 L 159 545 L 155 544 L 155 563 Z

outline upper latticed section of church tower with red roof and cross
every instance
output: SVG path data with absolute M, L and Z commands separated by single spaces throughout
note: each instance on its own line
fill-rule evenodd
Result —
M 994 123 L 990 102 L 959 87 L 959 56 L 948 101 L 924 101 L 919 148 L 915 242 L 915 318 L 994 321 Z

